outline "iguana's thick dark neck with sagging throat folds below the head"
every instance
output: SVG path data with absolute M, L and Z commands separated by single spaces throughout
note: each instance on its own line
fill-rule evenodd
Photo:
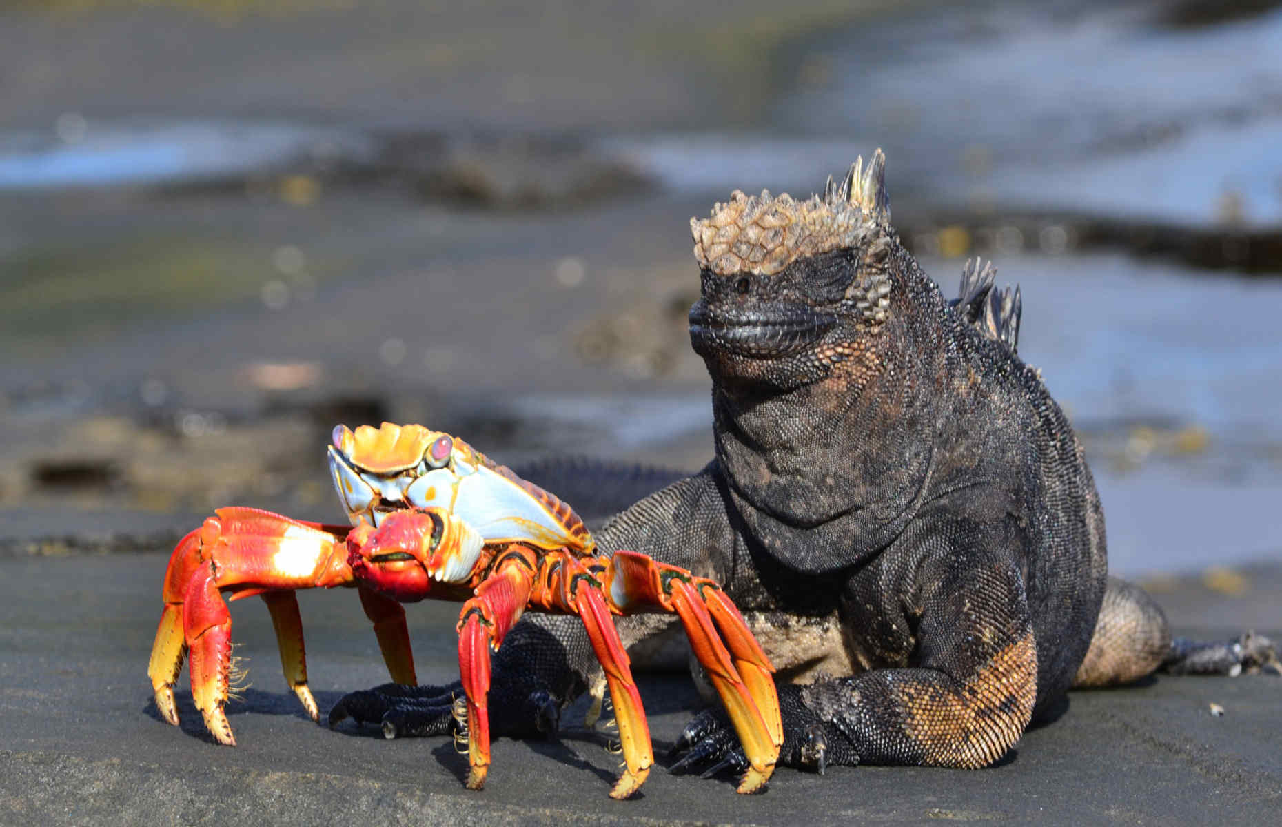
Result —
M 946 347 L 920 341 L 940 337 L 923 319 L 935 303 L 896 287 L 891 318 L 824 380 L 781 391 L 714 377 L 717 458 L 735 504 L 753 539 L 800 571 L 883 547 L 924 495 Z

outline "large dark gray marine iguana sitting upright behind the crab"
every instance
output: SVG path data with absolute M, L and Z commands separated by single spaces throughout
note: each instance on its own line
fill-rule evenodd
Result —
M 890 224 L 883 174 L 878 150 L 823 196 L 736 191 L 691 219 L 715 459 L 610 519 L 599 547 L 723 583 L 778 668 L 781 763 L 820 772 L 985 767 L 1072 686 L 1276 663 L 1258 636 L 1173 642 L 1156 604 L 1108 577 L 1082 446 L 1015 353 L 1018 290 L 976 263 L 946 301 Z M 641 660 L 672 622 L 618 628 Z M 579 626 L 522 621 L 495 656 L 491 731 L 555 730 L 597 672 Z M 329 722 L 445 733 L 456 692 L 385 685 Z M 742 765 L 719 712 L 674 753 L 705 774 Z

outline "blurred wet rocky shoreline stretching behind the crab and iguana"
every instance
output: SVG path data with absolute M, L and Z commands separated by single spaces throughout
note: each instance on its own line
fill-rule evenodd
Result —
M 336 422 L 712 455 L 688 218 L 883 147 L 1023 286 L 1114 571 L 1282 559 L 1282 4 L 9 0 L 0 545 L 337 521 Z

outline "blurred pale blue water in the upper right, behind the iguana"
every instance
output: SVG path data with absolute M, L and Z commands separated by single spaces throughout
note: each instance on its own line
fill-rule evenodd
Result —
M 773 122 L 876 141 L 914 183 L 997 208 L 1282 221 L 1282 9 L 1176 28 L 1159 8 L 949 6 L 844 32 Z

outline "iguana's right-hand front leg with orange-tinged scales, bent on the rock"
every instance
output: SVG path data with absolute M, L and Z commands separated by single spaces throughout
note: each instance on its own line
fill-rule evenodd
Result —
M 978 768 L 1015 744 L 1037 699 L 1037 645 L 1017 544 L 1001 533 L 962 519 L 918 523 L 906 532 L 918 549 L 892 546 L 886 565 L 850 581 L 856 646 L 903 665 L 781 686 L 781 763 Z M 677 753 L 677 768 L 740 764 L 712 713 L 691 722 Z

